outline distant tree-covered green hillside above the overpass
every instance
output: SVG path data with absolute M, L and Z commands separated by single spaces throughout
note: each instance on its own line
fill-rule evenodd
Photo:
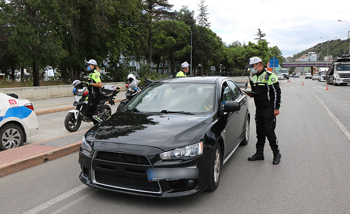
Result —
M 327 41 L 318 43 L 317 45 L 308 48 L 300 53 L 294 54 L 293 58 L 299 58 L 303 54 L 307 54 L 308 52 L 316 52 L 317 48 L 317 54 L 320 55 L 319 60 L 322 61 L 324 57 L 327 56 Z M 336 39 L 336 40 L 330 40 L 328 42 L 328 53 L 329 55 L 332 55 L 334 57 L 339 57 L 343 54 L 343 51 L 346 51 L 346 53 L 349 53 L 349 39 L 346 40 L 341 40 L 341 39 Z

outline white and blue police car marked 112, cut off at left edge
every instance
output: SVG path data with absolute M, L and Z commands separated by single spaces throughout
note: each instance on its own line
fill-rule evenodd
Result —
M 38 130 L 33 104 L 15 97 L 0 93 L 0 150 L 21 146 Z

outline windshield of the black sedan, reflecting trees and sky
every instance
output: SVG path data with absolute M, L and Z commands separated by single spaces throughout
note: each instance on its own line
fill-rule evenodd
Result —
M 213 110 L 215 84 L 160 83 L 141 92 L 126 108 L 137 113 L 202 114 Z

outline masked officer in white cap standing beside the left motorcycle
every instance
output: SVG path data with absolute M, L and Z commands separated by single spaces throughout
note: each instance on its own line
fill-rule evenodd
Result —
M 101 122 L 101 119 L 95 115 L 97 105 L 99 104 L 103 96 L 101 90 L 101 74 L 100 69 L 97 66 L 95 60 L 89 60 L 89 62 L 86 63 L 85 66 L 87 66 L 87 70 L 90 71 L 89 77 L 86 82 L 86 86 L 89 90 L 89 106 L 86 115 L 91 119 L 94 125 L 96 125 Z

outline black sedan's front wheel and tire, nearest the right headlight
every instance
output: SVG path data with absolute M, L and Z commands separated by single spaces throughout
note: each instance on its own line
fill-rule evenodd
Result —
M 208 190 L 214 191 L 219 186 L 220 174 L 222 166 L 222 156 L 221 156 L 221 147 L 217 142 L 214 146 L 214 151 L 212 154 L 212 160 L 210 161 L 210 177 Z

